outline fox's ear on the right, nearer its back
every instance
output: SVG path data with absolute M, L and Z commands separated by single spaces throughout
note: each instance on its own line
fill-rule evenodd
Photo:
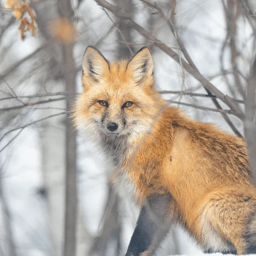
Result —
M 153 56 L 150 48 L 141 48 L 129 61 L 127 69 L 130 69 L 136 82 L 140 82 L 144 77 L 153 74 Z

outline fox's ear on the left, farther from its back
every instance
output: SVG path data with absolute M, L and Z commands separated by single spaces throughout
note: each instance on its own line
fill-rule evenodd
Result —
M 109 70 L 109 62 L 93 46 L 88 46 L 82 59 L 83 75 L 91 76 L 98 81 L 106 70 Z

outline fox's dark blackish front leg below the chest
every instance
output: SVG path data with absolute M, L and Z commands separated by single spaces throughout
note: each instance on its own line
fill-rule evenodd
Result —
M 172 201 L 170 195 L 153 195 L 146 200 L 125 256 L 154 255 L 172 224 Z

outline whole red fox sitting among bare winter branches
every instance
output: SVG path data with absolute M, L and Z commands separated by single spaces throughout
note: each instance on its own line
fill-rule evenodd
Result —
M 143 47 L 109 62 L 89 46 L 74 122 L 112 160 L 121 197 L 141 207 L 126 256 L 155 255 L 172 224 L 205 252 L 256 253 L 256 190 L 246 143 L 168 106 Z

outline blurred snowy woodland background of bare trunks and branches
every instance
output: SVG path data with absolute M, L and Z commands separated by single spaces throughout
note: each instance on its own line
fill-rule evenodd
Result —
M 249 91 L 248 81 L 256 3 L 0 4 L 0 255 L 124 255 L 139 209 L 118 199 L 108 166 L 70 119 L 84 50 L 92 45 L 116 60 L 150 47 L 165 99 L 244 137 L 243 115 L 252 110 L 254 121 L 255 113 L 255 83 Z M 158 255 L 197 253 L 196 243 L 173 227 Z

